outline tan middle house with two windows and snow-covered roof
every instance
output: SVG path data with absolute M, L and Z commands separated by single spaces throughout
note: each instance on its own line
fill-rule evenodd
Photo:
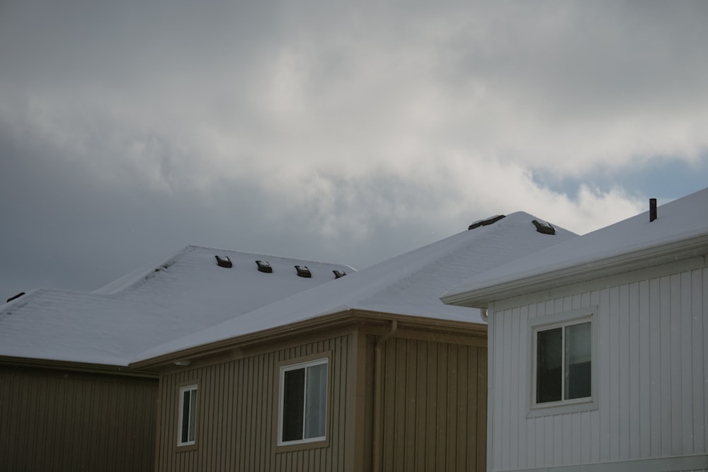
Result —
M 440 294 L 574 235 L 525 213 L 173 340 L 157 471 L 484 471 L 486 324 Z

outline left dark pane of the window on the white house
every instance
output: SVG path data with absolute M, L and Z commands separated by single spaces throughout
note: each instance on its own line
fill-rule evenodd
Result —
M 537 332 L 536 403 L 560 401 L 562 391 L 563 330 Z

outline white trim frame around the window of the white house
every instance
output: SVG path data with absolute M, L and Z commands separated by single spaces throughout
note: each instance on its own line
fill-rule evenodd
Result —
M 549 316 L 532 318 L 528 323 L 529 356 L 529 391 L 527 395 L 527 418 L 546 415 L 559 415 L 598 409 L 598 307 L 565 311 Z M 565 328 L 580 323 L 590 323 L 590 396 L 572 398 L 547 403 L 536 403 L 537 383 L 537 333 L 552 328 Z

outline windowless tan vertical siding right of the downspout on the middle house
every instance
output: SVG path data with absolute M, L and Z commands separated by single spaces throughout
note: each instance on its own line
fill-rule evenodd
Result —
M 486 348 L 392 338 L 382 359 L 382 470 L 486 470 Z

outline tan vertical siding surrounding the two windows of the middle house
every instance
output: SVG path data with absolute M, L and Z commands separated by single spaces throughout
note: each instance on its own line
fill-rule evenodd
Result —
M 185 369 L 161 377 L 158 471 L 341 471 L 350 458 L 345 427 L 350 336 Z M 329 447 L 277 451 L 274 426 L 280 362 L 331 352 Z M 197 381 L 197 447 L 176 450 L 178 386 Z

